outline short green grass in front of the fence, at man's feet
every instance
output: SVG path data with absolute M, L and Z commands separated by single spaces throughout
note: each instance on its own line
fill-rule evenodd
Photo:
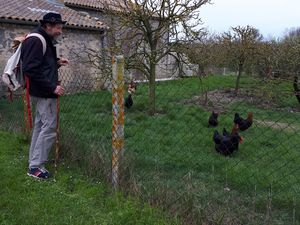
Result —
M 157 209 L 60 166 L 55 179 L 26 175 L 27 140 L 0 132 L 0 224 L 172 224 Z M 53 171 L 53 166 L 49 165 Z

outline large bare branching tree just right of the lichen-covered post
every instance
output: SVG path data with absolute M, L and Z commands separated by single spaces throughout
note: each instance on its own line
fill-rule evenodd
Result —
M 149 80 L 149 113 L 155 113 L 156 67 L 175 54 L 178 42 L 198 38 L 199 9 L 210 0 L 118 0 L 106 10 L 119 18 L 118 53 L 126 57 L 128 69 L 137 69 Z M 120 44 L 121 43 L 121 44 Z M 125 45 L 125 48 L 124 48 Z M 122 49 L 122 50 L 121 50 Z

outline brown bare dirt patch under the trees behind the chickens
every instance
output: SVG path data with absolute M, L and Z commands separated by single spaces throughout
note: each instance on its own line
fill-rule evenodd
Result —
M 280 109 L 276 101 L 274 97 L 257 90 L 241 89 L 237 95 L 234 89 L 218 89 L 201 96 L 185 99 L 181 103 L 200 105 L 209 112 L 214 110 L 223 113 L 226 112 L 228 106 L 237 102 L 247 102 L 263 109 Z M 299 108 L 285 108 L 284 110 L 291 113 L 300 112 Z

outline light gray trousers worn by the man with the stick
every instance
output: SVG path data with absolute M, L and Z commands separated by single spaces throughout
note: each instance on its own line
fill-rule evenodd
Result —
M 43 168 L 56 138 L 57 99 L 31 97 L 36 116 L 29 150 L 29 168 Z

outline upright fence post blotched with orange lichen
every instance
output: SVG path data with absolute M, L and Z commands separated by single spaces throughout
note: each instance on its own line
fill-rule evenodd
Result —
M 124 152 L 124 57 L 112 59 L 112 185 L 118 188 Z

